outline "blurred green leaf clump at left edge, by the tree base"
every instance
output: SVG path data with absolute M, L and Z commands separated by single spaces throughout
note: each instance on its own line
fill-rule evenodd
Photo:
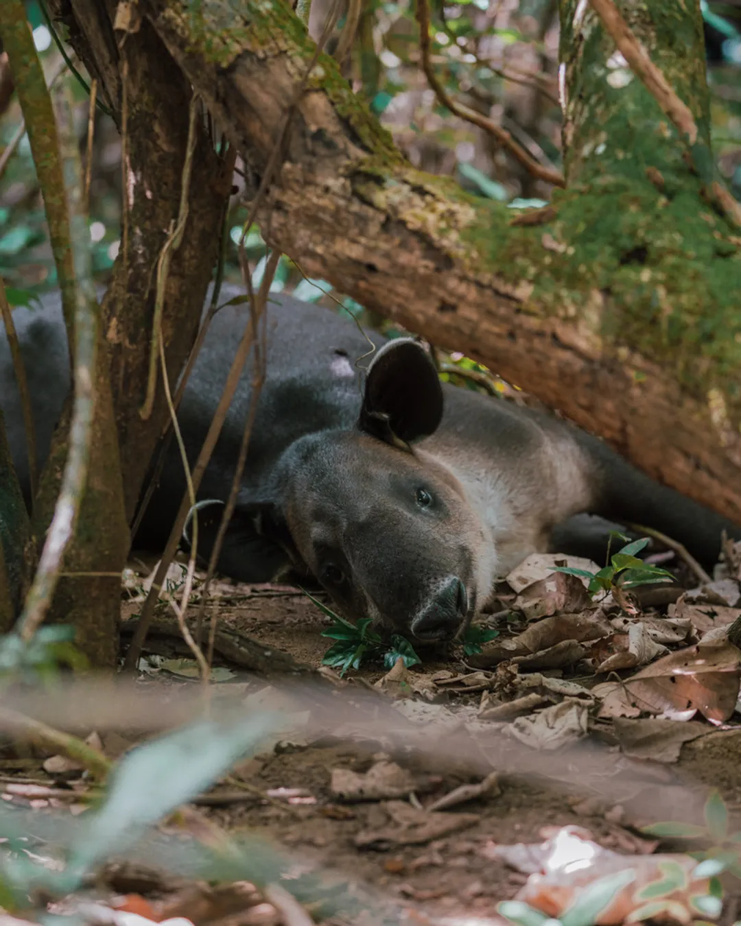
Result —
M 87 659 L 72 641 L 73 627 L 50 624 L 40 627 L 26 643 L 18 633 L 0 637 L 0 679 L 25 682 L 51 682 L 59 669 L 86 669 Z

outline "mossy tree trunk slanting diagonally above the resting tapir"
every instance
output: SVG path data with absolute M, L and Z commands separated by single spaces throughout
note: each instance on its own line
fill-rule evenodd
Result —
M 618 6 L 707 158 L 697 3 Z M 140 9 L 259 174 L 314 55 L 303 25 L 282 2 Z M 552 206 L 514 213 L 411 169 L 322 55 L 261 228 L 308 275 L 484 362 L 741 523 L 741 237 L 703 200 L 644 86 L 613 67 L 597 16 L 576 0 L 560 15 L 570 185 Z

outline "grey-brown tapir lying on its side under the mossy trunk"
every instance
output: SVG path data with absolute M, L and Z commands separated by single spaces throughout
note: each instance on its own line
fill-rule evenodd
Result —
M 222 300 L 238 291 L 227 288 Z M 221 307 L 179 409 L 191 463 L 206 436 L 248 316 Z M 58 294 L 14 313 L 42 459 L 69 388 Z M 454 638 L 524 557 L 574 546 L 571 516 L 637 521 L 706 564 L 741 530 L 646 475 L 602 441 L 503 399 L 441 383 L 424 346 L 361 332 L 331 309 L 270 295 L 267 375 L 220 572 L 269 582 L 291 567 L 351 619 L 421 641 Z M 144 335 L 143 335 L 144 336 Z M 198 493 L 198 552 L 213 546 L 250 406 L 248 362 Z M 523 383 L 527 385 L 527 383 Z M 19 397 L 0 339 L 0 408 L 29 493 Z M 171 442 L 135 544 L 165 543 L 185 491 Z M 192 512 L 193 514 L 193 512 Z M 567 528 L 559 525 L 567 524 Z M 186 530 L 186 534 L 188 531 Z M 578 538 L 577 538 L 578 539 Z M 564 544 L 560 552 L 570 552 Z M 581 552 L 581 551 L 577 551 Z

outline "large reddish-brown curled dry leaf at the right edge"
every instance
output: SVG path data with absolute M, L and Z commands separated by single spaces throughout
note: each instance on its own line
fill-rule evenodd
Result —
M 596 685 L 600 717 L 662 714 L 689 720 L 697 711 L 722 723 L 733 714 L 741 652 L 727 641 L 702 642 L 670 653 L 623 682 Z M 609 704 L 609 707 L 608 707 Z

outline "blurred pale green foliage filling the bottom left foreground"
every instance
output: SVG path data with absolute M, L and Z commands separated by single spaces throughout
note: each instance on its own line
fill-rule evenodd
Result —
M 69 895 L 110 857 L 138 858 L 144 846 L 162 870 L 208 882 L 281 883 L 322 917 L 339 910 L 359 913 L 368 904 L 358 906 L 345 883 L 325 884 L 314 873 L 296 876 L 292 860 L 256 835 L 206 845 L 151 832 L 234 761 L 254 755 L 276 727 L 276 718 L 266 714 L 221 723 L 200 720 L 138 746 L 119 761 L 99 806 L 80 818 L 0 807 L 0 905 L 8 912 L 28 911 L 34 895 Z M 30 836 L 43 841 L 44 857 L 29 854 Z M 46 857 L 52 855 L 58 866 L 48 864 Z M 57 921 L 71 926 L 75 920 Z

